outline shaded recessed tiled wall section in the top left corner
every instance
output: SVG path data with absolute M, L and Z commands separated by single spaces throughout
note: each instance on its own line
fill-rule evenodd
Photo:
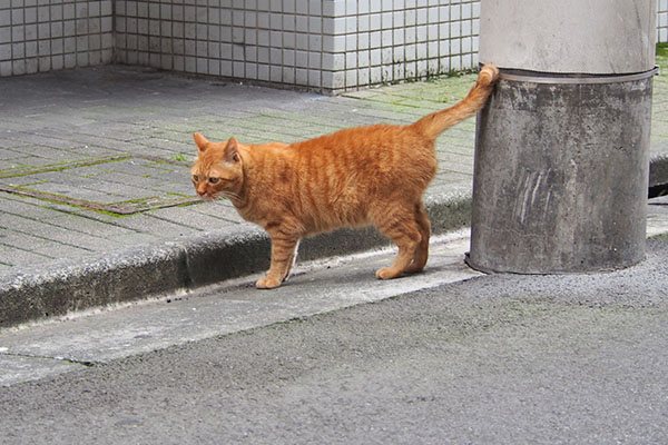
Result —
M 112 0 L 0 0 L 0 76 L 108 63 Z

